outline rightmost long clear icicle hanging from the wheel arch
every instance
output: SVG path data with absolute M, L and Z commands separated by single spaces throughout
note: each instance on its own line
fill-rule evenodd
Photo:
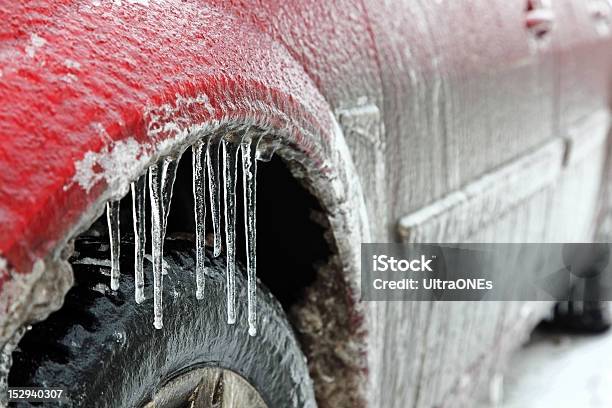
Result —
M 247 252 L 247 309 L 249 335 L 257 334 L 257 281 L 256 281 L 256 191 L 257 191 L 257 144 L 260 136 L 246 138 L 241 144 L 242 183 L 244 192 L 244 230 Z

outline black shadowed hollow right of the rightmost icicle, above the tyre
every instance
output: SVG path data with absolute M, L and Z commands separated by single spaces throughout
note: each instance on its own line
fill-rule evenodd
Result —
M 296 180 L 278 157 L 261 166 L 258 182 L 258 271 L 262 282 L 286 310 L 303 299 L 304 290 L 332 253 L 329 231 L 317 199 Z

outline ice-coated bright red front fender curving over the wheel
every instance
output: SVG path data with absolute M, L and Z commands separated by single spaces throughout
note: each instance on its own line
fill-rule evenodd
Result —
M 272 126 L 321 166 L 330 151 L 327 103 L 253 25 L 195 2 L 94 3 L 1 7 L 0 284 L 56 248 L 117 166 L 136 176 L 195 125 Z

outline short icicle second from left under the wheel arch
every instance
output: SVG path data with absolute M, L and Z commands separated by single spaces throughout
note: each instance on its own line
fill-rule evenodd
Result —
M 134 289 L 136 303 L 144 301 L 144 251 L 146 244 L 145 199 L 147 176 L 132 182 L 132 219 L 134 221 Z

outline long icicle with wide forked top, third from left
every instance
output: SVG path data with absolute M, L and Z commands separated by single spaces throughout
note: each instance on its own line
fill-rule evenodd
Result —
M 162 291 L 163 257 L 166 222 L 170 212 L 172 187 L 176 178 L 178 159 L 167 157 L 149 168 L 149 193 L 151 195 L 151 249 L 153 255 L 153 325 L 163 327 Z

